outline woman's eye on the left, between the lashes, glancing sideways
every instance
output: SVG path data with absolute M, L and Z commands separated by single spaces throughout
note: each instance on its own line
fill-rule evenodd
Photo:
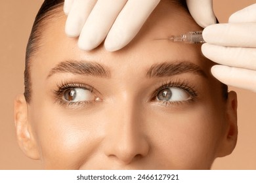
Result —
M 84 88 L 68 88 L 64 90 L 62 99 L 68 102 L 95 101 L 95 95 Z

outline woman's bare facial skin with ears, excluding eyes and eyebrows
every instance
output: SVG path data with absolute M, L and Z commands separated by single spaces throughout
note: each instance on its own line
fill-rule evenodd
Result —
M 169 35 L 200 30 L 188 13 L 161 1 L 139 35 L 117 52 L 99 46 L 91 52 L 66 37 L 62 15 L 45 27 L 33 58 L 32 101 L 19 95 L 14 118 L 24 153 L 41 159 L 45 169 L 210 169 L 214 159 L 236 145 L 236 93 L 224 100 L 221 83 L 209 73 L 201 45 L 156 41 Z M 96 62 L 109 78 L 51 70 L 62 61 Z M 206 76 L 182 73 L 148 78 L 156 63 L 188 61 Z M 47 77 L 48 76 L 48 77 Z M 183 82 L 196 90 L 187 101 L 163 103 L 152 93 L 166 82 Z M 61 105 L 53 91 L 62 83 L 94 88 L 91 103 Z M 61 100 L 62 98 L 60 98 Z

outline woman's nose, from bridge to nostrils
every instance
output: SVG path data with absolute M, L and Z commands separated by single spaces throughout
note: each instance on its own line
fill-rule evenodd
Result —
M 115 106 L 108 113 L 111 125 L 107 128 L 104 151 L 108 158 L 128 165 L 146 157 L 150 149 L 144 114 L 139 107 L 135 107 L 136 103 Z

